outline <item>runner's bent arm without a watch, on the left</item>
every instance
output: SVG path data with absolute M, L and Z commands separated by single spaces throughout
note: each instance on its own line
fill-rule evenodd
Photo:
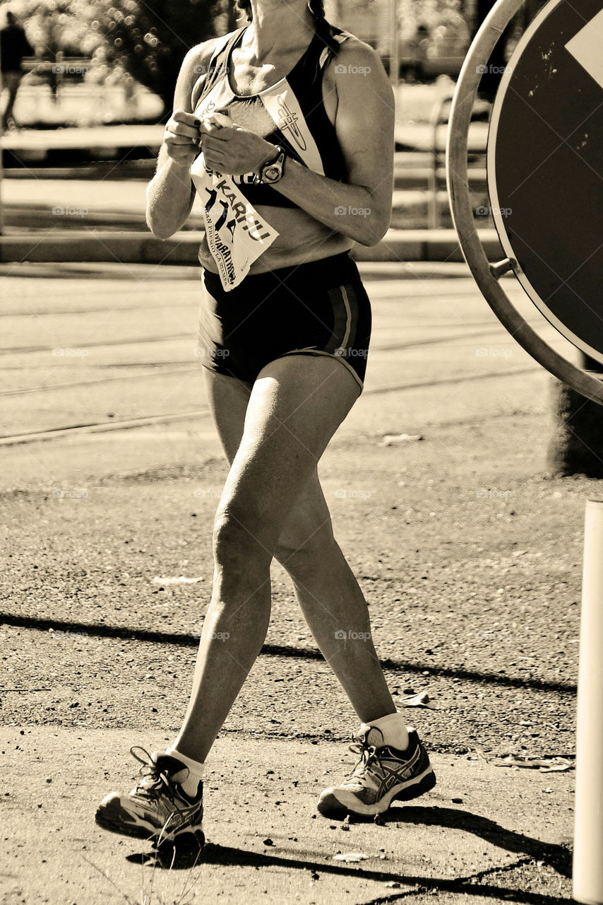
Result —
M 174 90 L 174 112 L 165 126 L 155 176 L 146 187 L 146 224 L 157 239 L 169 239 L 186 223 L 194 200 L 193 160 L 200 153 L 199 120 L 191 109 L 191 91 L 212 57 L 214 42 L 193 47 Z

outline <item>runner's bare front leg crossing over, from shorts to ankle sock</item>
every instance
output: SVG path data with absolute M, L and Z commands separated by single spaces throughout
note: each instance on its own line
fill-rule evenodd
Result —
M 279 537 L 357 395 L 340 363 L 302 356 L 271 362 L 250 392 L 216 514 L 212 603 L 174 746 L 185 757 L 205 759 L 261 650 Z

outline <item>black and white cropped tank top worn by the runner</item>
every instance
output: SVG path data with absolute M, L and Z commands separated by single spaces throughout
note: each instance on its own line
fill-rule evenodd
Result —
M 240 96 L 231 89 L 228 72 L 231 53 L 249 26 L 226 35 L 212 54 L 207 75 L 194 84 L 191 108 L 203 112 L 228 111 L 232 121 L 287 150 L 299 163 L 338 181 L 347 177 L 344 155 L 334 125 L 323 103 L 323 75 L 333 51 L 315 34 L 293 69 L 275 85 L 257 94 Z M 334 40 L 343 43 L 349 33 L 331 26 Z M 297 207 L 271 186 L 251 185 L 252 173 L 232 176 L 252 205 Z

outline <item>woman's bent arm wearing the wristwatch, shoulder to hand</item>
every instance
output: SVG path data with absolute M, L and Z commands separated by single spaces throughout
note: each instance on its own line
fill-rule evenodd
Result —
M 273 187 L 320 223 L 363 245 L 376 245 L 391 219 L 394 99 L 382 62 L 368 44 L 348 38 L 325 71 L 336 92 L 335 131 L 347 182 L 319 176 L 288 159 Z M 205 130 L 203 153 L 220 173 L 256 170 L 275 146 L 247 129 Z

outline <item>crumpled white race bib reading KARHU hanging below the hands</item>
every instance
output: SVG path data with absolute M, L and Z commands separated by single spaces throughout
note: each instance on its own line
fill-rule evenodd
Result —
M 191 176 L 202 200 L 207 244 L 228 292 L 240 285 L 278 233 L 250 205 L 231 176 L 205 167 L 203 152 L 194 160 Z

